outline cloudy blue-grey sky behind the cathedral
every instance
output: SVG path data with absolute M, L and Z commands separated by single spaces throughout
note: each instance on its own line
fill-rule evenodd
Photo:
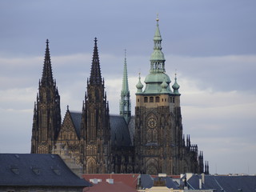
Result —
M 0 153 L 30 153 L 46 38 L 62 116 L 66 105 L 82 110 L 95 37 L 111 114 L 118 114 L 126 49 L 134 113 L 158 13 L 166 73 L 173 81 L 177 70 L 181 86 L 184 134 L 211 174 L 256 174 L 255 9 L 254 0 L 2 0 Z

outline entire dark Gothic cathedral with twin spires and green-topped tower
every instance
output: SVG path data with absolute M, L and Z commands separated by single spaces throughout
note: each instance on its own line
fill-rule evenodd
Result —
M 165 70 L 158 19 L 145 88 L 138 77 L 131 115 L 127 63 L 124 59 L 120 114 L 110 114 L 98 55 L 97 38 L 81 112 L 67 106 L 62 121 L 60 95 L 53 78 L 49 41 L 34 102 L 32 154 L 59 154 L 85 174 L 209 174 L 202 151 L 182 133 L 179 85 Z M 135 86 L 135 85 L 134 85 Z

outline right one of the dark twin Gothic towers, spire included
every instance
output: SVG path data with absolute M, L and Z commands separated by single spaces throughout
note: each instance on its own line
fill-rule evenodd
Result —
M 97 38 L 82 106 L 82 159 L 86 174 L 110 173 L 110 114 L 98 58 Z

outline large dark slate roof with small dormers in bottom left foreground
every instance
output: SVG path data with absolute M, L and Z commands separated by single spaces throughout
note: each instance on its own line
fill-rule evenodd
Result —
M 58 154 L 0 154 L 0 186 L 92 186 Z

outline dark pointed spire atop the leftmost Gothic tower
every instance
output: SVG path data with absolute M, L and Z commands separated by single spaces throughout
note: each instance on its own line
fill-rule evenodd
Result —
M 45 54 L 45 61 L 43 64 L 43 70 L 42 70 L 42 85 L 54 85 L 54 78 L 53 73 L 51 69 L 51 63 L 50 63 L 50 50 L 49 50 L 49 40 L 46 39 L 46 54 Z

